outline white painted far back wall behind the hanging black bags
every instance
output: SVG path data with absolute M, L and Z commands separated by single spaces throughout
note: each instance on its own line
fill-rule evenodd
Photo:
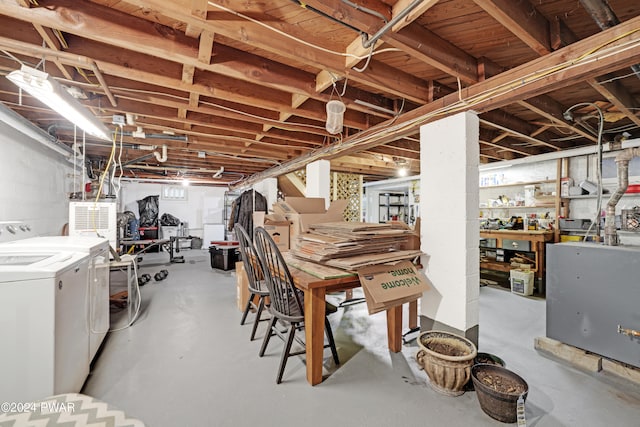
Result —
M 140 217 L 138 200 L 147 196 L 158 198 L 158 218 L 169 213 L 187 222 L 192 236 L 203 237 L 204 224 L 222 224 L 225 187 L 189 186 L 187 200 L 167 200 L 162 197 L 162 187 L 168 184 L 124 182 L 119 195 L 119 212 L 131 211 Z

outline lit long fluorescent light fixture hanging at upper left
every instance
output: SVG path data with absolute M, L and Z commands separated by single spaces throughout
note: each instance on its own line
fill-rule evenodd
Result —
M 7 78 L 90 135 L 111 141 L 111 131 L 49 74 L 23 65 Z

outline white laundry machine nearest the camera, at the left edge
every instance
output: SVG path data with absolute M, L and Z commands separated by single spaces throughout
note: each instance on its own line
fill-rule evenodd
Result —
M 89 374 L 88 264 L 88 253 L 0 253 L 0 402 L 81 390 Z

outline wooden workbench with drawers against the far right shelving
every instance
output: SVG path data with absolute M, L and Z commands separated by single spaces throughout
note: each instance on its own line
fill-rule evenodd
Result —
M 535 272 L 537 279 L 544 278 L 545 272 L 545 245 L 547 242 L 553 242 L 554 233 L 551 230 L 480 230 L 481 239 L 495 239 L 494 246 L 483 246 L 486 250 L 509 251 L 509 253 L 517 254 L 530 252 L 533 254 L 532 260 L 534 265 L 532 270 Z M 527 242 L 528 245 L 520 243 Z M 512 267 L 507 260 L 500 261 L 482 261 L 480 268 L 487 270 L 497 270 L 509 272 Z

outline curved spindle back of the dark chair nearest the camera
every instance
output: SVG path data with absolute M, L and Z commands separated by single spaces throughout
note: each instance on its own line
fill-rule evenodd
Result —
M 300 321 L 304 318 L 302 291 L 294 286 L 280 249 L 263 227 L 256 227 L 253 240 L 267 279 L 270 310 L 285 320 Z

